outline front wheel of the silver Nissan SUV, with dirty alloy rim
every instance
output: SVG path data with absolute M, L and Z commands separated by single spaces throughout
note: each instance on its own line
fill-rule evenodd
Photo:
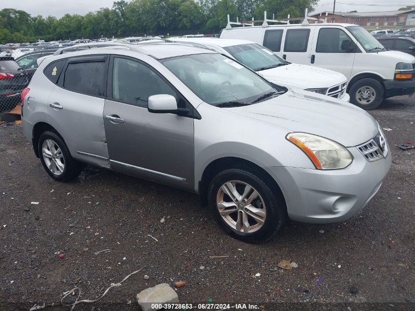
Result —
M 246 242 L 270 239 L 287 220 L 282 194 L 279 191 L 273 192 L 265 178 L 258 175 L 245 169 L 224 170 L 213 178 L 208 192 L 209 207 L 222 229 L 234 238 Z M 231 193 L 230 189 L 234 187 L 239 195 L 244 195 L 245 190 L 249 189 L 247 185 L 251 190 L 245 196 L 245 201 L 239 202 L 239 199 L 244 198 L 241 196 L 235 203 L 231 196 L 226 194 Z M 256 191 L 258 196 L 250 200 L 253 191 Z M 233 198 L 236 196 L 237 194 Z

